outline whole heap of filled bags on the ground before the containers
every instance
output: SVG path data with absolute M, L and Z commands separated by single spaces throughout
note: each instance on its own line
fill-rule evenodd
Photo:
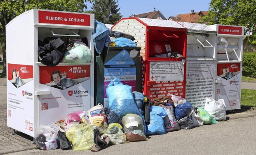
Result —
M 42 150 L 74 149 L 100 151 L 107 145 L 146 141 L 180 129 L 226 120 L 223 100 L 206 100 L 205 108 L 192 107 L 179 96 L 161 96 L 152 102 L 141 92 L 132 92 L 118 78 L 106 88 L 109 106 L 98 104 L 87 111 L 67 114 L 64 120 L 38 126 L 36 147 Z

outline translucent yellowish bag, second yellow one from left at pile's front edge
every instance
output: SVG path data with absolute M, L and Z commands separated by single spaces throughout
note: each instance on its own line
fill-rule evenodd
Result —
M 110 137 L 110 144 L 121 144 L 121 143 L 128 143 L 126 141 L 126 135 L 122 131 L 122 126 L 117 123 L 108 124 L 108 129 L 102 136 L 108 135 Z

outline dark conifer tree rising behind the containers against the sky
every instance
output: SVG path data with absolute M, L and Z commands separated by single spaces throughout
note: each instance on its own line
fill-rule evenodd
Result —
M 122 18 L 117 3 L 116 0 L 94 0 L 91 7 L 94 18 L 104 24 L 116 24 Z

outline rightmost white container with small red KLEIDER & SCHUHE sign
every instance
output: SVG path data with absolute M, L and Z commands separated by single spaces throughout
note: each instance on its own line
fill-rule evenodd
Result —
M 217 35 L 216 100 L 224 99 L 226 110 L 240 109 L 243 26 L 211 25 Z

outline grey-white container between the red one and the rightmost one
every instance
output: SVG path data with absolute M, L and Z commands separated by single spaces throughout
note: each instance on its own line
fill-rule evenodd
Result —
M 206 98 L 215 98 L 217 31 L 205 24 L 178 23 L 188 29 L 186 100 L 204 107 Z

